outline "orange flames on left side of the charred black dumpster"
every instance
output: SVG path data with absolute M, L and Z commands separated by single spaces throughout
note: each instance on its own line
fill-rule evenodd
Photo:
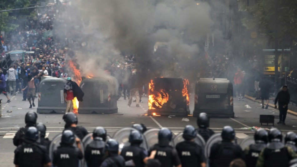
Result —
M 154 91 L 155 86 L 153 80 L 149 83 L 149 109 L 156 109 L 155 107 L 162 108 L 164 103 L 169 100 L 168 93 L 161 89 L 159 91 Z

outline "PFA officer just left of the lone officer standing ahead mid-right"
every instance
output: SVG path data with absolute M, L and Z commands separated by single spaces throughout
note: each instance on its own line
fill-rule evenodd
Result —
M 192 125 L 187 125 L 183 133 L 185 141 L 176 145 L 176 150 L 183 167 L 206 166 L 203 148 L 194 142 L 196 136 L 197 132 L 195 128 Z

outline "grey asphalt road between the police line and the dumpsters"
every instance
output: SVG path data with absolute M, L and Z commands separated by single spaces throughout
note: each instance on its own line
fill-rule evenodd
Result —
M 24 116 L 28 111 L 36 111 L 37 107 L 29 108 L 28 101 L 22 101 L 22 95 L 17 94 L 15 97 L 11 97 L 12 102 L 6 104 L 6 97 L 0 95 L 3 98 L 2 104 L 2 114 L 3 117 L 0 118 L 0 164 L 2 167 L 10 167 L 13 165 L 13 151 L 15 146 L 12 143 L 12 138 L 18 128 L 23 127 Z M 35 102 L 37 106 L 37 101 Z M 118 100 L 118 114 L 79 114 L 78 124 L 87 128 L 88 131 L 92 131 L 93 128 L 97 126 L 103 126 L 107 129 L 108 134 L 111 136 L 121 128 L 130 127 L 132 123 L 144 123 L 147 128 L 161 128 L 168 127 L 174 134 L 178 134 L 183 131 L 183 128 L 191 124 L 195 127 L 196 118 L 195 117 L 185 117 L 189 119 L 189 122 L 182 122 L 183 117 L 149 117 L 143 114 L 148 109 L 147 97 L 143 97 L 143 103 L 140 103 L 140 107 L 135 107 L 135 102 L 132 103 L 131 107 L 127 107 L 128 100 L 123 100 L 121 97 Z M 191 96 L 190 110 L 194 109 L 194 99 Z M 249 105 L 251 108 L 247 108 Z M 7 111 L 11 111 L 11 113 Z M 244 101 L 238 101 L 234 99 L 234 112 L 235 118 L 211 118 L 210 128 L 215 132 L 220 132 L 222 127 L 225 125 L 232 126 L 236 131 L 236 137 L 238 140 L 242 140 L 247 136 L 252 136 L 254 131 L 249 129 L 241 129 L 252 126 L 262 127 L 262 128 L 272 128 L 270 126 L 261 126 L 259 123 L 260 114 L 272 114 L 278 116 L 279 112 L 273 108 L 262 109 L 261 104 L 257 102 L 252 102 L 248 99 Z M 38 114 L 38 122 L 42 122 L 47 126 L 48 138 L 52 139 L 58 133 L 61 133 L 64 127 L 64 122 L 62 119 L 62 114 Z M 275 123 L 278 119 L 275 119 Z M 283 133 L 288 131 L 297 132 L 297 117 L 293 115 L 287 115 L 286 120 L 287 125 L 274 124 L 274 127 L 282 130 Z

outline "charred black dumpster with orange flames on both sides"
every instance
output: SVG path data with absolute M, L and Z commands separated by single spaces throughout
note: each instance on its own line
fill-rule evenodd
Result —
M 181 78 L 154 78 L 149 83 L 148 115 L 187 116 L 189 81 Z

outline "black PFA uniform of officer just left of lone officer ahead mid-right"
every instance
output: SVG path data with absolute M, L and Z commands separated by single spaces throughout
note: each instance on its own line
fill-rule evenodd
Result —
M 200 167 L 201 163 L 206 162 L 204 151 L 195 142 L 183 141 L 176 145 L 182 167 Z

